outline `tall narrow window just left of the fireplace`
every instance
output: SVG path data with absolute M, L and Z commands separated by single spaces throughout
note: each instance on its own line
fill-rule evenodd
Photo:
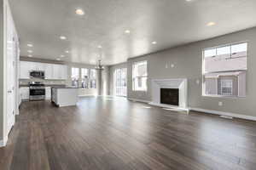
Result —
M 147 91 L 148 68 L 147 61 L 141 61 L 132 65 L 132 90 Z

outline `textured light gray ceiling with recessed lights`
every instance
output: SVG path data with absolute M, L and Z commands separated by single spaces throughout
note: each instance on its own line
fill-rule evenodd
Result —
M 20 54 L 104 65 L 256 26 L 255 0 L 9 0 Z M 75 14 L 83 8 L 84 15 Z M 210 21 L 216 26 L 207 26 Z M 125 34 L 130 30 L 130 34 Z M 67 40 L 61 40 L 63 35 Z M 156 41 L 157 44 L 151 42 Z M 102 48 L 97 48 L 101 45 Z

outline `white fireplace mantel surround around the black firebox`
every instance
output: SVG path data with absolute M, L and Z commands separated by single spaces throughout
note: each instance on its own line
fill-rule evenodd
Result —
M 160 103 L 160 88 L 178 88 L 179 105 L 166 105 Z M 184 111 L 188 109 L 188 80 L 186 78 L 153 79 L 151 86 L 152 101 L 150 105 L 175 108 Z

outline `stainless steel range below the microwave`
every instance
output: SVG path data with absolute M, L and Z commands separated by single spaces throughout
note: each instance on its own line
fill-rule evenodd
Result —
M 29 100 L 45 99 L 45 87 L 43 82 L 29 82 Z

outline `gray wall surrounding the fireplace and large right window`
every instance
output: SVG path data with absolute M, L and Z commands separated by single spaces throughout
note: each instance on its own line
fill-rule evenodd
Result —
M 217 98 L 202 96 L 202 49 L 211 48 L 218 45 L 248 41 L 248 59 L 247 59 L 247 97 L 246 98 Z M 246 31 L 215 37 L 201 42 L 193 42 L 176 48 L 169 48 L 154 54 L 147 54 L 142 57 L 128 59 L 128 98 L 151 100 L 151 80 L 154 78 L 188 78 L 189 82 L 189 106 L 214 111 L 233 112 L 241 115 L 256 116 L 255 96 L 256 96 L 256 78 L 253 72 L 256 72 L 256 28 Z M 148 60 L 148 92 L 132 91 L 132 63 L 140 60 Z M 174 65 L 172 68 L 171 65 Z M 166 68 L 166 65 L 168 68 Z M 115 67 L 111 66 L 110 74 Z M 113 77 L 110 75 L 110 77 Z M 200 80 L 200 84 L 196 83 Z M 113 81 L 110 78 L 110 87 Z M 218 106 L 218 101 L 223 105 Z

